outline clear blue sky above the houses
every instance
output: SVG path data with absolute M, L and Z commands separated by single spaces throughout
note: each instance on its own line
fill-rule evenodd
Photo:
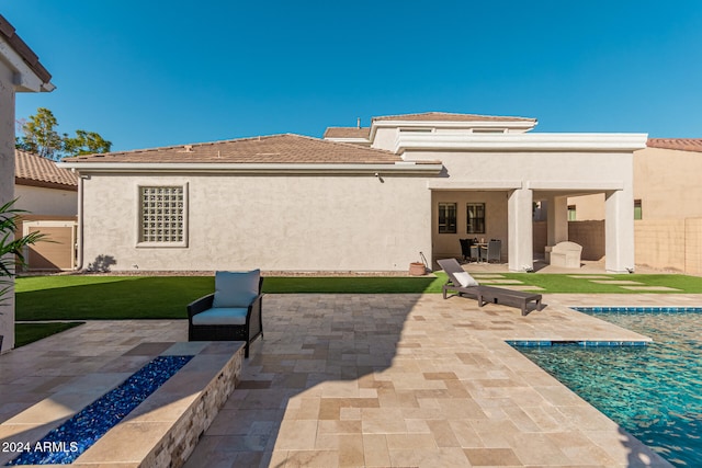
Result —
M 113 150 L 428 111 L 702 137 L 702 2 L 0 0 L 58 130 Z

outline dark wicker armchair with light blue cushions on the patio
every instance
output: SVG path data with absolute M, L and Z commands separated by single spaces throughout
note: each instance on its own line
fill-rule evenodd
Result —
M 251 342 L 263 336 L 259 270 L 216 272 L 215 292 L 188 305 L 189 341 L 245 341 L 245 357 Z

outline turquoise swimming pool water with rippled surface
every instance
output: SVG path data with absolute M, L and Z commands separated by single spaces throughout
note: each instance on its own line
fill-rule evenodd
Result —
M 517 346 L 678 467 L 702 466 L 702 308 L 575 308 L 647 346 Z

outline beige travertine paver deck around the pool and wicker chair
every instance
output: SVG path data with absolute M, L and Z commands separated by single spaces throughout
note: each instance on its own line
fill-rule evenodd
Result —
M 565 306 L 700 299 L 551 295 L 521 317 L 439 294 L 267 295 L 264 338 L 185 466 L 669 466 L 505 340 L 638 340 Z M 184 320 L 88 322 L 2 355 L 0 422 L 185 339 Z

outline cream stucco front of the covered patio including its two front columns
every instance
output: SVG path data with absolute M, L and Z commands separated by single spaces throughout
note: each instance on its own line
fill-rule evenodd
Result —
M 584 192 L 608 194 L 605 269 L 625 272 L 634 265 L 632 152 L 411 150 L 406 151 L 405 159 L 443 161 L 448 178 L 443 186 L 434 183 L 437 190 L 471 193 L 506 187 L 501 193 L 508 212 L 507 242 L 503 239 L 502 246 L 510 270 L 520 271 L 533 263 L 532 202 Z M 519 192 L 518 198 L 513 197 L 514 191 Z M 488 225 L 492 224 L 491 216 L 488 212 Z M 434 244 L 441 242 L 439 238 L 434 235 Z

